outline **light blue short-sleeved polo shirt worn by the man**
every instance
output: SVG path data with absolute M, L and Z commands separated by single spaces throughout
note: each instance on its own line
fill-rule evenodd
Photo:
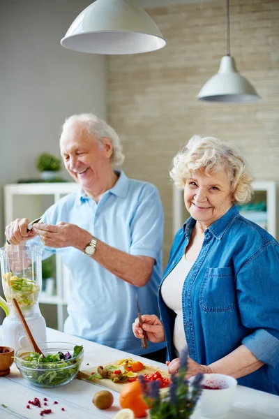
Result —
M 137 317 L 135 293 L 142 314 L 159 316 L 163 207 L 155 186 L 128 179 L 122 171 L 116 174 L 118 181 L 98 204 L 81 189 L 52 205 L 43 215 L 43 221 L 73 223 L 116 249 L 154 258 L 156 263 L 148 284 L 141 288 L 130 285 L 73 247 L 46 247 L 43 258 L 57 251 L 71 273 L 66 333 L 141 355 L 165 346 L 165 343 L 149 342 L 148 348 L 142 349 L 140 339 L 132 331 Z M 35 241 L 40 242 L 38 237 L 32 240 Z

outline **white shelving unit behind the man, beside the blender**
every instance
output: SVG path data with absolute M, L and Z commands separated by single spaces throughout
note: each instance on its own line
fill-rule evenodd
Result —
M 50 205 L 76 191 L 75 182 L 8 184 L 4 186 L 5 225 L 16 218 L 33 220 L 42 215 Z M 56 295 L 40 295 L 41 304 L 53 304 L 57 309 L 57 328 L 63 330 L 67 304 L 68 270 L 56 255 Z M 47 315 L 44 315 L 47 321 Z

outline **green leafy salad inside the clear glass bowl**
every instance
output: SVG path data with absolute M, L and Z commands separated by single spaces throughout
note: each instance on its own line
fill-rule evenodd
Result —
M 75 346 L 73 355 L 69 352 L 58 352 L 43 358 L 36 352 L 31 352 L 20 358 L 18 367 L 22 375 L 31 383 L 40 387 L 58 387 L 71 381 L 80 369 L 82 362 L 82 346 Z

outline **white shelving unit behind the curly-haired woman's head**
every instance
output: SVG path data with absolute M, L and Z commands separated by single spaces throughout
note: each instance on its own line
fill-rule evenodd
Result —
M 266 202 L 266 221 L 259 223 L 260 226 L 266 228 L 273 237 L 276 238 L 276 182 L 271 181 L 261 181 L 261 182 L 252 182 L 252 188 L 255 192 L 253 200 L 257 200 L 259 193 L 264 194 L 264 200 Z M 246 212 L 246 217 L 248 218 L 248 212 Z M 173 185 L 173 234 L 181 228 L 183 223 L 188 218 L 189 214 L 186 211 L 183 199 L 183 189 L 178 189 Z

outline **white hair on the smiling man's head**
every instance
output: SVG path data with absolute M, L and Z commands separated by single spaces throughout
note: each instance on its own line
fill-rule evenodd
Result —
M 84 113 L 80 115 L 72 115 L 71 117 L 67 118 L 62 126 L 62 133 L 66 131 L 70 126 L 73 124 L 81 124 L 86 128 L 89 134 L 93 135 L 93 137 L 100 142 L 100 145 L 103 145 L 104 138 L 110 138 L 112 140 L 112 163 L 115 166 L 121 166 L 123 163 L 125 156 L 122 153 L 122 145 L 114 128 L 112 128 L 107 122 L 103 121 L 96 115 L 91 113 Z M 62 135 L 61 133 L 61 135 Z

